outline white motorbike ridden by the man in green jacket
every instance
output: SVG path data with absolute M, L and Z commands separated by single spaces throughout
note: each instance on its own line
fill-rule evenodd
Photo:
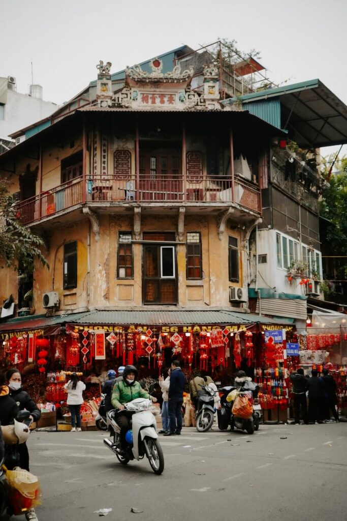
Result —
M 142 460 L 146 455 L 155 474 L 164 470 L 164 455 L 157 434 L 157 420 L 151 412 L 152 402 L 144 398 L 136 398 L 124 405 L 125 411 L 132 413 L 130 429 L 126 432 L 127 443 L 125 455 L 121 453 L 120 427 L 117 424 L 118 414 L 123 411 L 109 411 L 107 426 L 114 431 L 113 443 L 104 439 L 105 445 L 117 456 L 118 461 L 126 465 L 130 460 Z

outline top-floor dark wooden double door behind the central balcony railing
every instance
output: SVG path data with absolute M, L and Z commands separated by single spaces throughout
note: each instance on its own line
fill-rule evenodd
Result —
M 181 148 L 140 147 L 139 160 L 141 201 L 183 199 Z

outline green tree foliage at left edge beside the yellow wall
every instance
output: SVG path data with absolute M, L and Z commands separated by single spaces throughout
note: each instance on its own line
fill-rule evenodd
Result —
M 23 226 L 17 217 L 16 202 L 8 191 L 8 181 L 0 179 L 0 267 L 19 270 L 22 277 L 27 277 L 34 270 L 38 260 L 48 267 L 41 253 L 44 241 Z

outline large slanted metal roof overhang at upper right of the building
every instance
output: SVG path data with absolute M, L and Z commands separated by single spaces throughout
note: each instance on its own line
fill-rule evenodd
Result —
M 299 146 L 347 143 L 347 106 L 318 79 L 229 98 L 222 104 L 241 101 L 248 108 L 253 102 L 274 97 L 279 97 L 281 103 L 282 127 Z

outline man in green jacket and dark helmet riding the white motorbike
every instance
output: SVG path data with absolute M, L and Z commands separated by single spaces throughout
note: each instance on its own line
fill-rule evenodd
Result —
M 153 402 L 156 402 L 157 399 L 153 398 L 148 394 L 148 392 L 144 391 L 138 381 L 137 378 L 137 369 L 133 365 L 126 365 L 123 371 L 123 380 L 116 382 L 114 384 L 111 396 L 111 404 L 114 409 L 117 411 L 122 411 L 121 414 L 117 415 L 115 419 L 117 424 L 120 426 L 120 442 L 121 442 L 121 456 L 125 455 L 126 449 L 126 441 L 125 434 L 127 430 L 130 429 L 130 420 L 132 413 L 130 411 L 126 411 L 124 405 L 136 398 L 151 398 Z

